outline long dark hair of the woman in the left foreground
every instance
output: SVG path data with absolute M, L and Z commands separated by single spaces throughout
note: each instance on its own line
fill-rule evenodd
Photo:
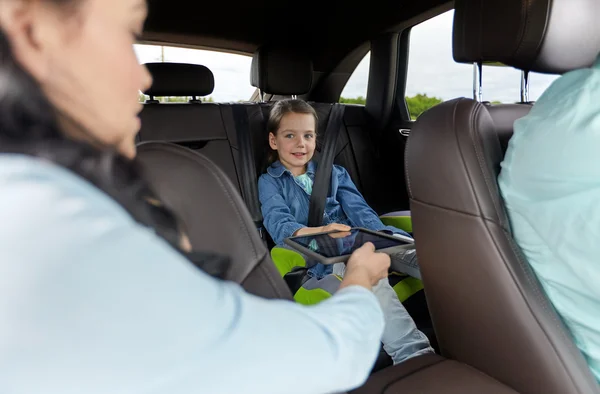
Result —
M 51 0 L 75 5 L 81 0 Z M 161 204 L 143 179 L 136 160 L 112 150 L 65 137 L 57 111 L 39 84 L 15 60 L 0 29 L 0 153 L 43 158 L 85 178 L 121 204 L 139 223 L 179 248 L 180 232 L 173 213 Z

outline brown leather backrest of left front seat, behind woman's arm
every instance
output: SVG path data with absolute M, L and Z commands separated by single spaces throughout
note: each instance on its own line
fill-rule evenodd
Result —
M 219 167 L 166 142 L 139 145 L 138 157 L 161 200 L 183 219 L 194 249 L 230 256 L 226 278 L 248 292 L 292 299 L 239 192 Z

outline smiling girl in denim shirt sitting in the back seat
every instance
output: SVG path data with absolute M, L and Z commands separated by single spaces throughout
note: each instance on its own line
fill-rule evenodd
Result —
M 283 240 L 293 235 L 348 231 L 351 227 L 404 233 L 381 223 L 352 183 L 348 172 L 340 166 L 333 168 L 332 197 L 327 198 L 325 207 L 327 224 L 306 227 L 316 171 L 316 165 L 311 161 L 315 152 L 316 124 L 315 110 L 302 100 L 282 100 L 271 109 L 267 130 L 274 161 L 267 173 L 261 175 L 258 188 L 264 225 L 275 243 L 283 245 Z M 309 269 L 308 275 L 313 282 L 322 280 L 334 269 L 336 274 L 343 274 L 343 266 L 316 264 Z M 375 286 L 374 292 L 386 320 L 382 342 L 394 364 L 433 352 L 427 337 L 417 329 L 387 278 Z

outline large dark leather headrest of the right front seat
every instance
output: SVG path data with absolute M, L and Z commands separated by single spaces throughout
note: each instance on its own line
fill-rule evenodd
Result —
M 454 60 L 548 74 L 590 67 L 599 18 L 598 0 L 456 0 Z

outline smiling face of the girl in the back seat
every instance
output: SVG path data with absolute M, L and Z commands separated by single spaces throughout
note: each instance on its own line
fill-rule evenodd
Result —
M 316 124 L 312 114 L 288 113 L 281 118 L 276 135 L 269 134 L 269 145 L 279 161 L 295 176 L 306 172 L 316 146 Z

